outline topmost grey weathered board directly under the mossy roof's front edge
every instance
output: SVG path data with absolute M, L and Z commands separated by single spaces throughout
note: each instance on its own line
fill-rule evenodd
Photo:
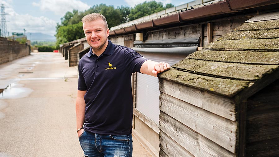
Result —
M 161 92 L 216 115 L 236 121 L 235 104 L 231 99 L 166 80 L 161 80 L 160 82 Z

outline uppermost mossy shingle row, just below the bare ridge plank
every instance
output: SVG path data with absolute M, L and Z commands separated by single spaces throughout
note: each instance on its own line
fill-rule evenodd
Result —
M 279 20 L 247 22 L 235 28 L 234 31 L 272 29 L 272 28 L 279 28 Z

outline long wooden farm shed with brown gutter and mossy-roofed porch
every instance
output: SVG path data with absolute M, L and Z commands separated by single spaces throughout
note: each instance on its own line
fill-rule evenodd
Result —
M 261 150 L 268 150 L 266 148 L 270 145 L 264 147 L 260 141 L 277 140 L 275 136 L 278 138 L 278 133 L 268 130 L 273 131 L 274 136 L 267 137 L 266 133 L 269 132 L 267 128 L 261 129 L 260 123 L 265 119 L 253 114 L 264 110 L 267 116 L 273 116 L 272 123 L 264 126 L 278 125 L 278 112 L 276 117 L 276 107 L 272 108 L 277 104 L 278 81 L 275 85 L 272 82 L 276 80 L 265 77 L 278 79 L 278 74 L 273 71 L 278 65 L 278 9 L 277 0 L 195 0 L 110 29 L 108 38 L 114 44 L 131 47 L 153 61 L 173 65 L 171 70 L 159 76 L 159 80 L 140 73 L 133 74 L 131 78 L 134 95 L 133 134 L 153 156 L 245 156 L 249 154 L 247 152 L 260 154 L 264 153 Z M 261 17 L 263 19 L 259 20 L 259 15 L 264 15 Z M 248 28 L 249 24 L 251 28 Z M 254 25 L 258 28 L 254 28 Z M 251 45 L 254 41 L 262 44 L 261 47 L 257 47 L 256 43 Z M 78 44 L 82 46 L 76 46 Z M 82 38 L 60 47 L 65 59 L 66 56 L 69 58 L 69 66 L 74 66 L 70 62 L 77 63 L 88 52 L 86 44 L 86 39 Z M 264 45 L 270 45 L 270 48 L 261 49 Z M 215 71 L 210 67 L 216 67 Z M 258 76 L 254 76 L 254 73 Z M 204 86 L 194 83 L 202 83 L 204 77 L 211 77 Z M 183 81 L 187 79 L 188 84 L 188 81 Z M 223 84 L 219 85 L 218 81 Z M 273 92 L 275 96 L 271 94 Z M 259 99 L 257 95 L 269 98 Z M 256 105 L 256 102 L 263 104 L 269 99 L 274 101 L 267 106 Z M 175 106 L 178 104 L 181 106 Z M 171 110 L 168 108 L 171 105 L 176 108 Z M 186 110 L 186 105 L 191 108 Z M 193 113 L 190 114 L 188 110 L 193 110 Z M 171 114 L 175 114 L 175 117 Z M 203 122 L 206 117 L 197 115 L 214 119 Z M 246 124 L 239 123 L 240 118 Z M 230 124 L 230 127 L 223 128 L 226 124 Z M 250 131 L 253 134 L 255 129 L 263 134 L 249 139 L 251 136 L 245 133 Z M 278 130 L 278 127 L 272 129 Z M 227 132 L 222 134 L 224 130 Z M 243 148 L 240 149 L 240 146 Z M 278 152 L 278 147 L 272 148 L 274 150 L 271 152 Z

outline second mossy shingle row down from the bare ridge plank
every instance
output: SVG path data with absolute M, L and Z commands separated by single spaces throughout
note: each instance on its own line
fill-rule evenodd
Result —
M 279 38 L 279 29 L 234 31 L 223 35 L 217 40 L 268 39 L 268 38 Z

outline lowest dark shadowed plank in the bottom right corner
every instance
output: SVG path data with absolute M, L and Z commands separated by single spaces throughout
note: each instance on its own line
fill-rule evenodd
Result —
M 279 155 L 279 138 L 247 144 L 247 157 L 277 157 Z

